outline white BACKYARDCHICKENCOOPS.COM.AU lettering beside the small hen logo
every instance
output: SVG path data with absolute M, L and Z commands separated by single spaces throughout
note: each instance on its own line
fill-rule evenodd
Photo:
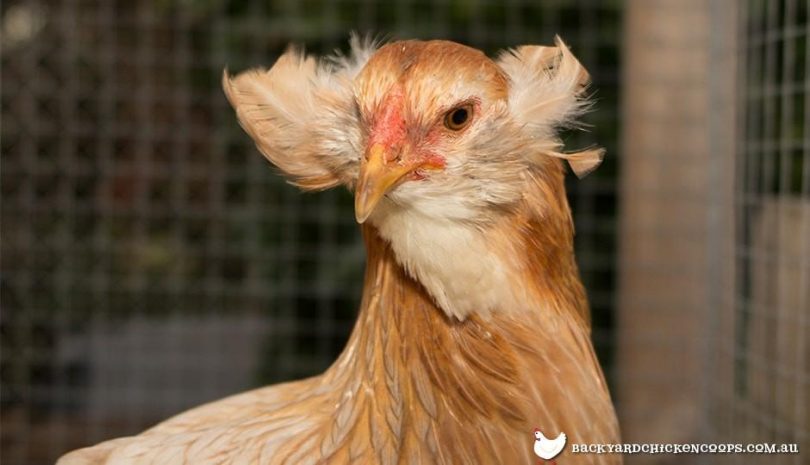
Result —
M 571 444 L 572 454 L 798 454 L 798 444 Z

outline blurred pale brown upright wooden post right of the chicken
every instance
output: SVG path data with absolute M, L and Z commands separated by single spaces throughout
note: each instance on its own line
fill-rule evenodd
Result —
M 711 331 L 733 288 L 736 18 L 731 0 L 627 4 L 617 351 L 624 442 L 707 442 Z

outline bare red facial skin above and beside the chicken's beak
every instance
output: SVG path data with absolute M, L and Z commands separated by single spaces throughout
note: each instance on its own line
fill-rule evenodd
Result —
M 424 169 L 443 169 L 447 165 L 443 156 L 430 149 L 441 134 L 434 128 L 421 141 L 414 141 L 405 123 L 404 107 L 402 88 L 395 87 L 386 94 L 372 123 L 368 146 L 382 145 L 385 147 L 386 162 L 413 165 L 414 171 L 408 175 L 408 179 L 423 180 L 426 177 Z M 406 154 L 407 159 L 401 160 L 402 154 Z

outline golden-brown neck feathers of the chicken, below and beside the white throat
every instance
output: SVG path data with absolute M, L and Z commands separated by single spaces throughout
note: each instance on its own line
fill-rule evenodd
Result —
M 363 226 L 357 324 L 343 354 L 312 381 L 319 401 L 304 400 L 310 410 L 320 405 L 313 412 L 325 420 L 301 444 L 329 463 L 449 464 L 534 463 L 535 428 L 576 443 L 619 441 L 590 341 L 562 175 L 530 181 L 525 205 L 485 233 L 493 253 L 511 257 L 505 285 L 527 305 L 507 299 L 456 318 L 382 228 Z M 301 444 L 290 445 L 291 457 Z

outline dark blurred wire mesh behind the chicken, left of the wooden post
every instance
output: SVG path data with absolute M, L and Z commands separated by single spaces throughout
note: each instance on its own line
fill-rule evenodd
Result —
M 2 457 L 51 463 L 184 408 L 317 373 L 342 349 L 363 251 L 347 192 L 302 195 L 239 130 L 222 69 L 351 30 L 489 53 L 560 34 L 594 77 L 569 196 L 610 376 L 619 2 L 2 3 Z

